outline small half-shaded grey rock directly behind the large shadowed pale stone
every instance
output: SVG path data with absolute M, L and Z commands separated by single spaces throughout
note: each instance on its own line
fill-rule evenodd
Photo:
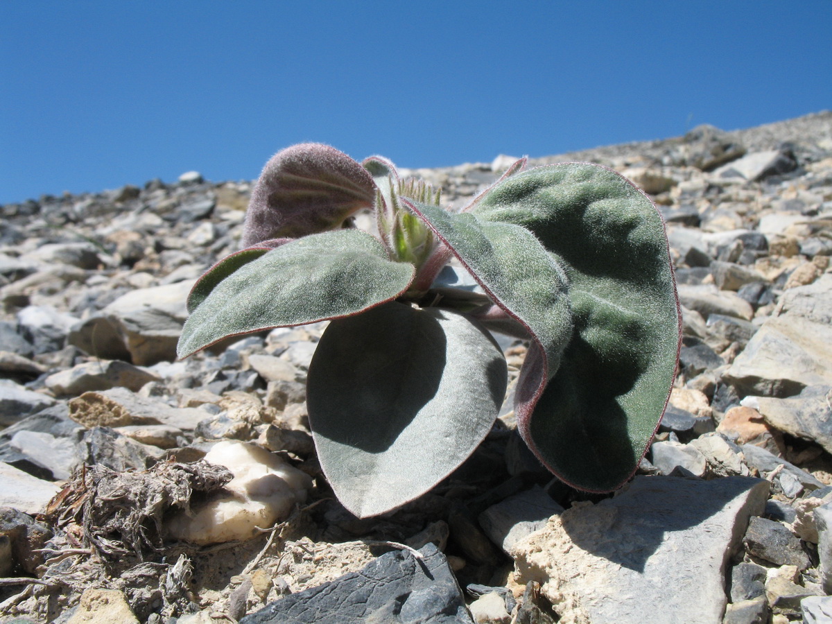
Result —
M 536 485 L 492 505 L 479 514 L 478 521 L 491 541 L 510 554 L 516 542 L 543 527 L 550 517 L 562 511 L 563 508 Z

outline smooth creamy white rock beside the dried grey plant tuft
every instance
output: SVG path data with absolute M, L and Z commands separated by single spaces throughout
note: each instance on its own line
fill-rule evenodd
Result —
M 206 454 L 206 462 L 228 468 L 234 478 L 225 493 L 168 524 L 176 539 L 196 544 L 245 540 L 255 527 L 271 527 L 285 519 L 295 503 L 303 503 L 312 479 L 274 453 L 254 444 L 223 441 Z

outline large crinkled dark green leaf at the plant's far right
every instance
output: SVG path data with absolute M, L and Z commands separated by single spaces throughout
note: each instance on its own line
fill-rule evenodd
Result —
M 574 330 L 545 391 L 530 349 L 518 387 L 523 438 L 574 487 L 609 491 L 635 472 L 676 374 L 680 314 L 664 223 L 615 171 L 564 163 L 518 173 L 471 214 L 530 230 L 568 276 Z

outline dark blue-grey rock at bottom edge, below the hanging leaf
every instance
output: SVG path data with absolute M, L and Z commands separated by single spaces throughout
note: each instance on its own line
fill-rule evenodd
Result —
M 442 552 L 428 544 L 421 560 L 394 551 L 360 572 L 280 598 L 240 624 L 473 624 Z

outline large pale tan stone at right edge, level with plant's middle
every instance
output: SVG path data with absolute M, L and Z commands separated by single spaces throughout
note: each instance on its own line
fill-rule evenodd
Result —
M 796 316 L 765 321 L 723 374 L 740 396 L 786 397 L 832 385 L 832 327 Z

